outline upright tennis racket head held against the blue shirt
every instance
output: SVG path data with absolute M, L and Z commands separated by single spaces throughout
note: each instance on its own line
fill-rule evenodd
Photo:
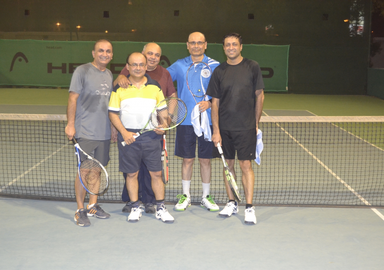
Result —
M 203 101 L 207 96 L 206 92 L 211 76 L 212 70 L 204 62 L 195 62 L 189 66 L 187 70 L 187 86 L 196 104 L 198 103 L 197 100 L 199 102 Z

